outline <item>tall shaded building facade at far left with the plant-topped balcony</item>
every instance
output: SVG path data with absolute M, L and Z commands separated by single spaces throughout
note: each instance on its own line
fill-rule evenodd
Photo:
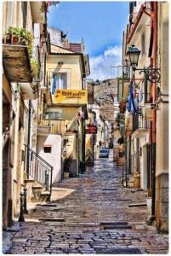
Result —
M 45 2 L 3 3 L 3 228 L 20 212 L 20 192 L 28 177 L 25 145 L 37 144 L 46 10 Z

